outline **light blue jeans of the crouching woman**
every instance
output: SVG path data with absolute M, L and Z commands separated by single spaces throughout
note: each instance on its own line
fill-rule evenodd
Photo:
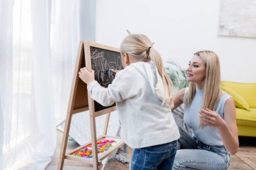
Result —
M 228 169 L 230 153 L 224 146 L 204 144 L 179 127 L 181 138 L 172 169 Z

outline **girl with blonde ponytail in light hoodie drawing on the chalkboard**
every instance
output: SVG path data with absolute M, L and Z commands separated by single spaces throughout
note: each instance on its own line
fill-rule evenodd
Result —
M 172 169 L 179 129 L 171 114 L 172 82 L 150 39 L 130 34 L 120 46 L 123 70 L 107 88 L 83 68 L 79 77 L 92 99 L 102 105 L 117 103 L 121 138 L 134 148 L 131 169 Z

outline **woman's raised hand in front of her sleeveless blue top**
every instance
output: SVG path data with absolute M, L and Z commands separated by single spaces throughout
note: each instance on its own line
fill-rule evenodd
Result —
M 220 127 L 224 123 L 224 120 L 220 115 L 212 110 L 206 109 L 203 110 L 201 109 L 199 111 L 200 114 L 200 126 L 214 126 L 214 127 Z

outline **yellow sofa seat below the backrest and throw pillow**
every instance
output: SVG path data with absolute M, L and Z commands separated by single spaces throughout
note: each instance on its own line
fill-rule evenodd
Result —
M 256 108 L 251 108 L 250 111 L 236 108 L 236 124 L 256 127 Z

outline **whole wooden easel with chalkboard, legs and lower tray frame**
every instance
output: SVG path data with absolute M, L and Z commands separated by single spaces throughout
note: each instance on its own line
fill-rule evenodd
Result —
M 85 163 L 92 164 L 93 169 L 99 169 L 99 162 L 113 154 L 114 151 L 117 151 L 118 148 L 125 144 L 125 142 L 123 142 L 123 140 L 121 140 L 119 137 L 109 136 L 110 138 L 118 138 L 120 140 L 119 144 L 116 144 L 102 155 L 94 155 L 93 159 L 83 159 L 82 157 L 76 157 L 71 155 L 72 152 L 66 154 L 69 128 L 73 114 L 78 114 L 80 112 L 89 110 L 90 131 L 92 135 L 92 152 L 97 153 L 98 137 L 96 134 L 96 117 L 106 114 L 103 136 L 108 138 L 106 133 L 108 130 L 110 112 L 116 110 L 115 104 L 110 105 L 109 107 L 104 107 L 99 103 L 96 103 L 90 97 L 87 90 L 87 84 L 79 78 L 79 71 L 84 67 L 86 67 L 89 71 L 93 69 L 95 71 L 96 81 L 98 81 L 103 87 L 108 87 L 108 85 L 112 83 L 113 79 L 115 78 L 112 73 L 110 74 L 109 69 L 122 69 L 121 54 L 119 54 L 119 49 L 110 46 L 104 46 L 102 44 L 96 44 L 94 42 L 79 42 L 77 60 L 75 62 L 75 71 L 73 74 L 71 93 L 69 97 L 69 106 L 67 108 L 67 118 L 63 134 L 63 142 L 61 144 L 61 154 L 59 158 L 58 170 L 63 169 L 65 159 L 84 161 Z M 84 146 L 86 146 L 86 144 Z M 79 146 L 75 148 L 74 151 L 77 151 L 77 149 L 80 149 L 84 146 Z

